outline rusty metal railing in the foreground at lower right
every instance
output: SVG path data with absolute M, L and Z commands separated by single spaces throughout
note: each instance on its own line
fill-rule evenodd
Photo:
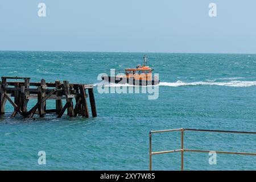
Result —
M 168 150 L 168 151 L 158 151 L 152 152 L 152 134 L 155 133 L 167 133 L 167 132 L 174 132 L 180 131 L 181 132 L 181 148 L 178 150 Z M 184 152 L 211 152 L 209 150 L 192 150 L 184 148 L 184 131 L 203 131 L 203 132 L 214 132 L 214 133 L 234 133 L 234 134 L 256 134 L 256 132 L 249 132 L 249 131 L 224 131 L 224 130 L 200 130 L 200 129 L 172 129 L 172 130 L 158 130 L 158 131 L 150 131 L 149 138 L 150 138 L 150 164 L 149 168 L 152 171 L 152 155 L 158 154 L 167 154 L 173 152 L 181 152 L 181 171 L 184 170 Z M 214 151 L 216 154 L 236 154 L 236 155 L 253 155 L 256 156 L 256 153 L 248 153 L 248 152 L 232 152 L 232 151 Z

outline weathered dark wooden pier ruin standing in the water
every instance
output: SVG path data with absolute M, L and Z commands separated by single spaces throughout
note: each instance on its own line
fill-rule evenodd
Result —
M 79 115 L 89 118 L 86 90 L 89 94 L 92 116 L 97 117 L 93 85 L 71 84 L 68 81 L 46 82 L 44 79 L 41 82 L 30 82 L 29 77 L 2 77 L 2 81 L 0 81 L 0 115 L 5 114 L 5 104 L 6 101 L 9 101 L 14 107 L 11 118 L 14 118 L 17 113 L 24 118 L 33 118 L 34 114 L 38 114 L 40 118 L 43 118 L 45 114 L 56 114 L 60 118 L 65 110 L 69 117 Z M 11 97 L 14 97 L 14 101 L 11 100 Z M 31 99 L 36 99 L 37 103 L 28 110 L 27 104 Z M 47 109 L 47 100 L 55 100 L 55 109 Z M 64 106 L 62 100 L 66 101 Z

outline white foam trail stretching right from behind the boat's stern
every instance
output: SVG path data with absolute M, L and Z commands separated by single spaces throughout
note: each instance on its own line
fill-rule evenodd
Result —
M 194 86 L 194 85 L 218 85 L 218 86 L 237 86 L 237 87 L 247 87 L 247 86 L 256 86 L 256 81 L 229 81 L 229 82 L 206 82 L 206 81 L 197 81 L 197 82 L 160 82 L 160 86 Z

